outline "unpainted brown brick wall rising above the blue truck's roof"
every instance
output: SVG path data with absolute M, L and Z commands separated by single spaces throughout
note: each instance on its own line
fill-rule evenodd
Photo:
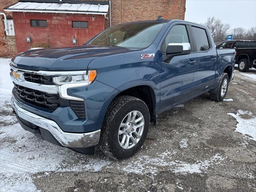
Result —
M 184 20 L 185 10 L 186 0 L 112 0 L 111 23 L 155 20 L 159 15 Z

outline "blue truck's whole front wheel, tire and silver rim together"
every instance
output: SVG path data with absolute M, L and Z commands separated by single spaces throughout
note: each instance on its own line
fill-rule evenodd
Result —
M 104 118 L 100 149 L 111 158 L 133 156 L 146 139 L 149 123 L 149 110 L 142 100 L 132 96 L 115 98 Z

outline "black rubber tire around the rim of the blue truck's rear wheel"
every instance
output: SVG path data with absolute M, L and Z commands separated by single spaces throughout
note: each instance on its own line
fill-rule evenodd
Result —
M 226 92 L 224 95 L 221 95 L 222 85 L 223 85 L 223 82 L 225 81 L 225 79 L 227 80 Z M 220 83 L 218 84 L 218 87 L 215 90 L 212 90 L 210 92 L 210 99 L 213 101 L 217 101 L 217 102 L 222 101 L 228 92 L 228 83 L 229 83 L 228 74 L 223 73 L 222 77 L 220 79 Z

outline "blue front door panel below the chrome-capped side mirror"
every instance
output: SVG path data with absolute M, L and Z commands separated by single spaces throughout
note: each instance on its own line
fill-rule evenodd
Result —
M 196 53 L 174 56 L 170 62 L 160 62 L 160 111 L 194 95 Z

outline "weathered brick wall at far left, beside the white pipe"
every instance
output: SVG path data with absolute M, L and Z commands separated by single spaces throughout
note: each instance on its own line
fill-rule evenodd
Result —
M 12 13 L 5 12 L 4 7 L 16 2 L 18 0 L 0 0 L 0 12 L 4 12 L 7 19 L 12 19 Z M 17 53 L 15 37 L 5 35 L 3 19 L 4 16 L 0 15 L 0 57 L 12 57 Z

